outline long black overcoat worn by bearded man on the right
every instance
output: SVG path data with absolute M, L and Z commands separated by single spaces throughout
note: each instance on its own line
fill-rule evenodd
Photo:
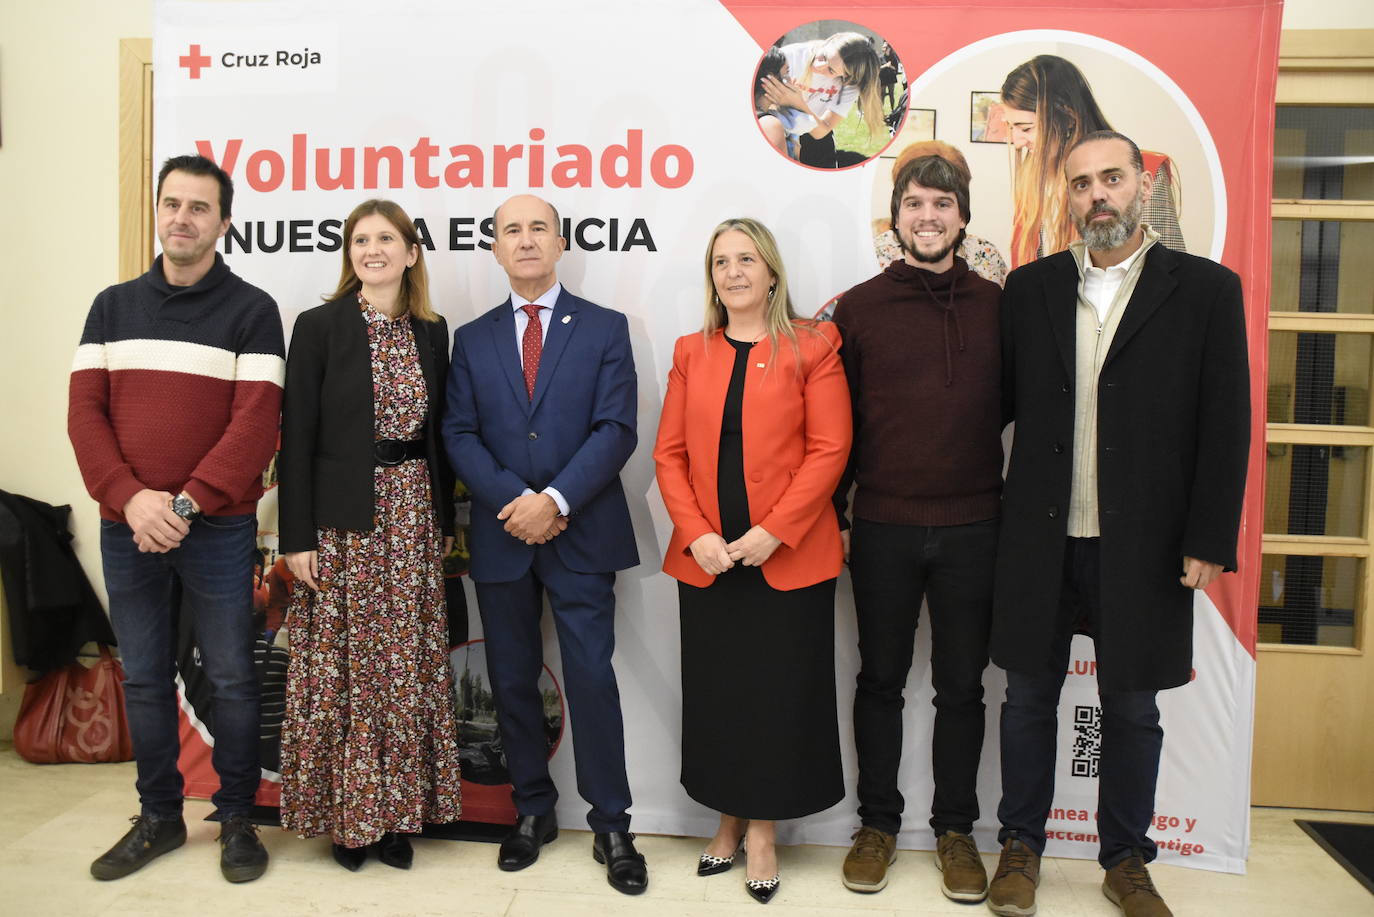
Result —
M 1015 421 L 1003 489 L 992 659 L 1048 664 L 1073 476 L 1079 269 L 1069 252 L 1014 271 L 1002 297 L 1003 386 Z M 1193 590 L 1183 557 L 1235 569 L 1250 439 L 1239 278 L 1154 245 L 1098 382 L 1101 690 L 1183 685 Z

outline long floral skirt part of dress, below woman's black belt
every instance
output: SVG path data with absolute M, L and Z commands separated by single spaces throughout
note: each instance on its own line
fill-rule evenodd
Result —
M 423 459 L 375 470 L 372 531 L 319 529 L 295 583 L 282 826 L 363 847 L 460 813 L 441 538 Z

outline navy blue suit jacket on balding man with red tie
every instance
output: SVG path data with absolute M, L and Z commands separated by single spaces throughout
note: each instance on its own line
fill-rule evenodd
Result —
M 453 333 L 444 445 L 473 491 L 471 575 L 506 583 L 523 576 L 536 546 L 496 518 L 528 487 L 552 485 L 567 500 L 567 531 L 550 542 L 580 573 L 639 564 L 620 469 L 635 451 L 638 385 L 625 316 L 558 296 L 539 363 L 525 392 L 510 300 Z

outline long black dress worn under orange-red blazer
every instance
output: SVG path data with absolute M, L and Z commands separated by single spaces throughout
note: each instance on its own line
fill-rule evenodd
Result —
M 720 425 L 721 535 L 749 531 L 741 421 L 747 342 Z M 844 795 L 835 722 L 835 580 L 768 586 L 735 565 L 706 588 L 677 583 L 682 616 L 683 774 L 687 795 L 741 818 L 800 818 Z

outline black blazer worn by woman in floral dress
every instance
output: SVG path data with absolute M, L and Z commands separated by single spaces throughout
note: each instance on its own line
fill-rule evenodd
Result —
M 448 378 L 448 323 L 411 316 L 429 415 L 426 461 L 440 529 L 453 533 L 453 472 L 440 440 Z M 372 359 L 357 298 L 346 296 L 302 312 L 291 331 L 278 456 L 279 550 L 319 547 L 319 525 L 372 528 Z

